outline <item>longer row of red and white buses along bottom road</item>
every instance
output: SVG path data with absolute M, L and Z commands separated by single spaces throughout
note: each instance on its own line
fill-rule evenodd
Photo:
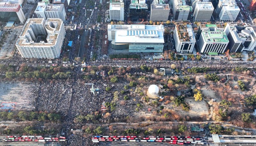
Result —
M 147 137 L 137 137 L 137 136 L 91 136 L 92 142 L 169 142 L 171 144 L 205 144 L 200 137 L 191 136 L 147 136 Z

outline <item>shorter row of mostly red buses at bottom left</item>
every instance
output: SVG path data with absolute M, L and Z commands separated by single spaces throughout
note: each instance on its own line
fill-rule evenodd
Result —
M 66 137 L 42 137 L 42 136 L 6 136 L 4 142 L 65 142 Z

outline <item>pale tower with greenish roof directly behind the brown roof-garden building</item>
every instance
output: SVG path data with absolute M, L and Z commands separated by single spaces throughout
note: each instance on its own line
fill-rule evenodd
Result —
M 172 12 L 175 21 L 187 21 L 193 13 L 192 6 L 186 5 L 185 0 L 173 0 Z

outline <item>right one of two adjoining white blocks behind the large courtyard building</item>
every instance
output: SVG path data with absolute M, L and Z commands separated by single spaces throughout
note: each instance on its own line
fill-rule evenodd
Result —
M 47 4 L 44 12 L 46 18 L 59 18 L 65 22 L 66 11 L 64 4 Z

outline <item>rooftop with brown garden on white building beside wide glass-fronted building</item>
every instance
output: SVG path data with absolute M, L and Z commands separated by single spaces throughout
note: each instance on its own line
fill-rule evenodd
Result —
M 181 42 L 196 42 L 195 34 L 191 25 L 176 25 L 178 36 Z

